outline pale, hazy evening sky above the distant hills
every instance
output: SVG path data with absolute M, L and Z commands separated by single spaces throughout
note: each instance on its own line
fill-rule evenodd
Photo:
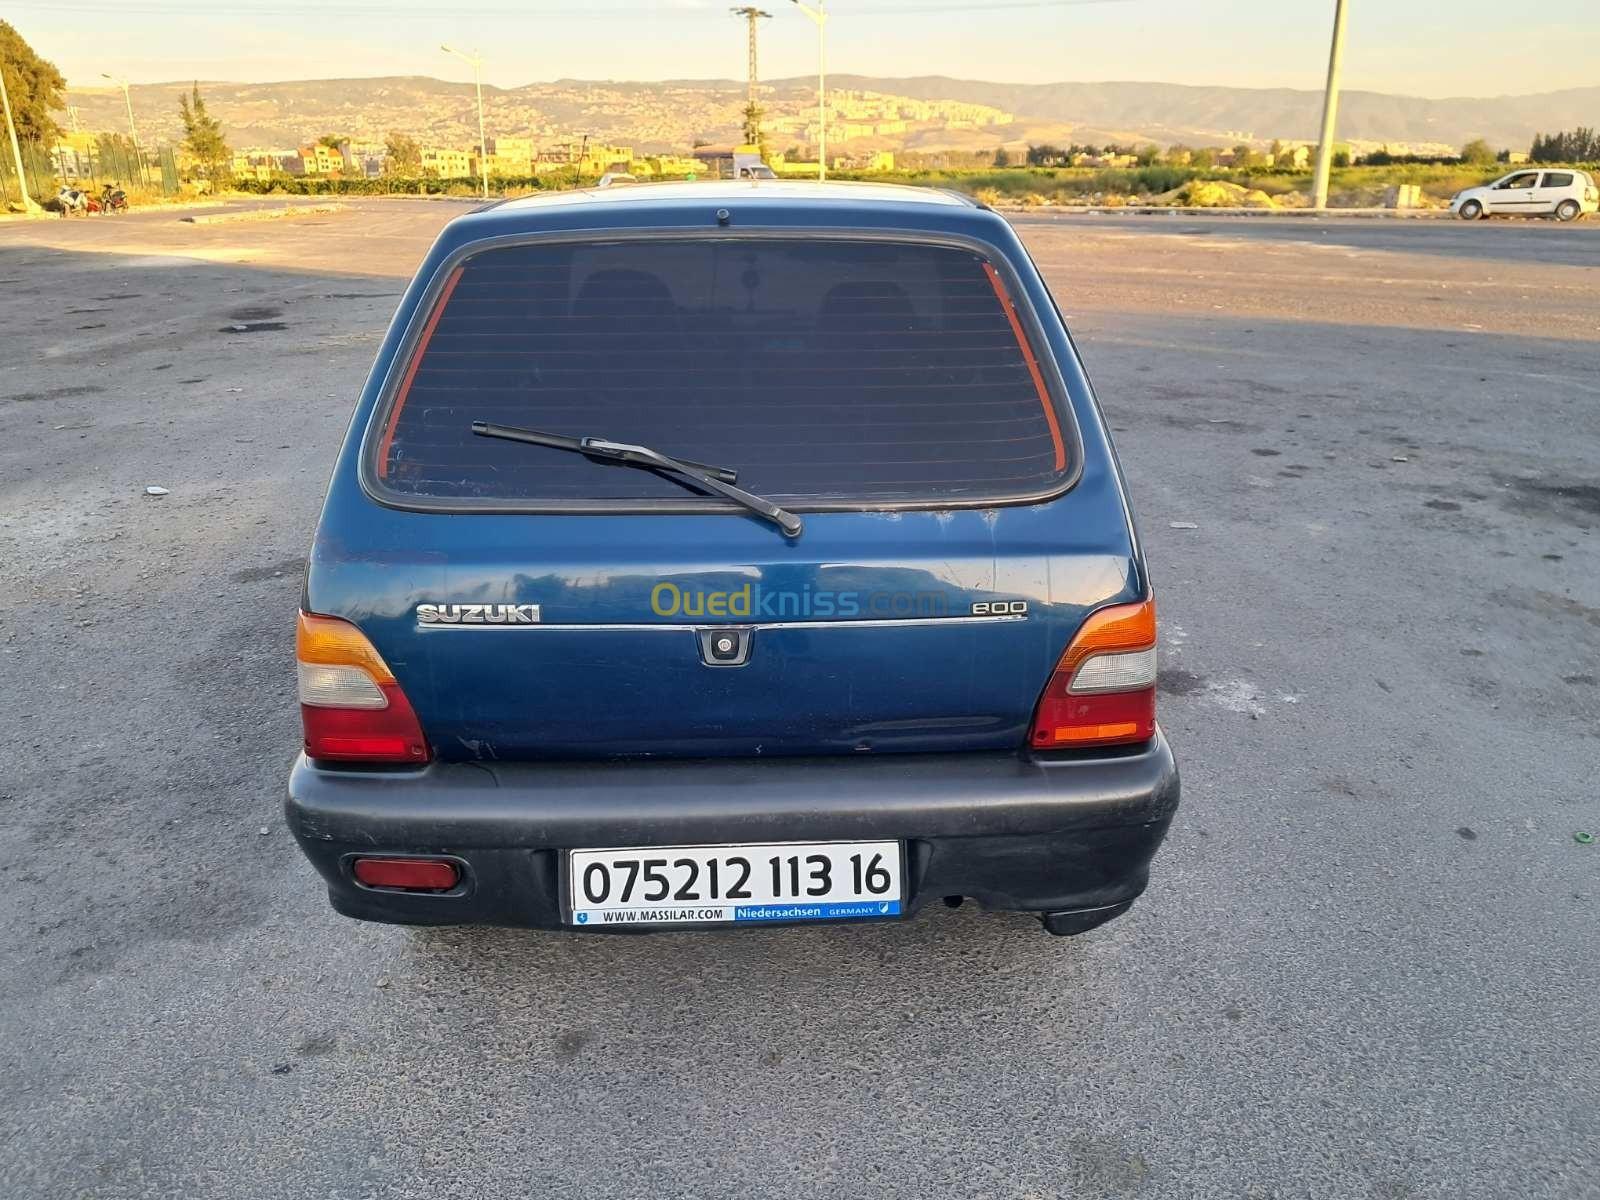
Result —
M 760 0 L 762 75 L 816 70 L 816 29 Z M 1595 0 L 1347 0 L 1346 88 L 1498 96 L 1600 85 Z M 486 83 L 742 78 L 731 0 L 11 0 L 72 85 L 350 75 Z M 1318 90 L 1334 0 L 827 0 L 829 69 L 1046 83 Z

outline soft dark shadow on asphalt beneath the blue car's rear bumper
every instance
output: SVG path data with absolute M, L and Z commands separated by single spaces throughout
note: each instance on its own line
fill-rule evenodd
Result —
M 1088 947 L 1088 939 L 1051 938 L 1032 917 L 936 904 L 904 922 L 858 926 L 410 930 L 394 965 L 429 990 L 430 1019 L 470 1026 L 490 1018 L 526 1029 L 530 1011 L 557 1016 L 544 1048 L 554 1062 L 582 1056 L 595 1067 L 627 1061 L 642 1069 L 653 1048 L 678 1061 L 733 1040 L 758 1066 L 776 1067 L 837 1054 L 846 1030 L 891 1034 L 944 1024 L 941 1014 L 952 1011 L 1059 1002 L 1086 984 Z

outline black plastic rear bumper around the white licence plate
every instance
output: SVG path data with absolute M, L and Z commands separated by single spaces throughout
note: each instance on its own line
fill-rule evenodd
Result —
M 333 906 L 363 920 L 563 928 L 563 850 L 904 838 L 907 912 L 968 896 L 1078 933 L 1144 891 L 1178 792 L 1157 734 L 1101 758 L 435 763 L 378 774 L 301 757 L 286 813 Z M 352 878 L 357 854 L 446 854 L 464 878 L 448 894 L 379 891 Z

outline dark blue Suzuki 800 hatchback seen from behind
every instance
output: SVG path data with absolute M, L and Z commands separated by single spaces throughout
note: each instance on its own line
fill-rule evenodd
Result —
M 1178 806 L 1094 394 L 1011 227 L 866 184 L 453 221 L 339 453 L 290 826 L 350 917 L 1122 914 Z

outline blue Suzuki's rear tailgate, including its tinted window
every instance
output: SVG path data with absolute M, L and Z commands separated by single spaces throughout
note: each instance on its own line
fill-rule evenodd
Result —
M 1011 749 L 1082 616 L 1142 587 L 1115 470 L 981 250 L 557 242 L 437 293 L 307 595 L 442 758 Z M 474 419 L 736 467 L 805 531 Z

